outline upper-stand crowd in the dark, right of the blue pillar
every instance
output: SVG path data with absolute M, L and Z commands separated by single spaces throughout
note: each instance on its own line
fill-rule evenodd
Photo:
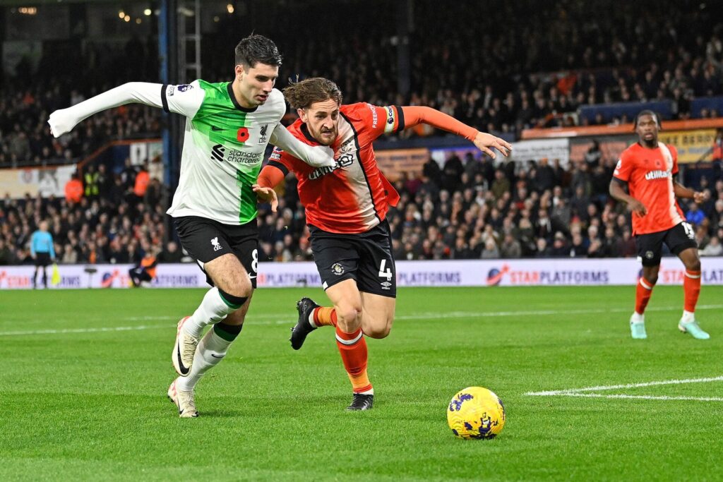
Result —
M 460 1 L 445 5 L 443 15 L 450 21 L 440 22 L 437 2 L 415 1 L 406 95 L 396 82 L 397 46 L 403 43 L 398 19 L 394 12 L 375 16 L 379 6 L 369 3 L 355 5 L 354 18 L 375 17 L 374 25 L 324 25 L 333 38 L 329 42 L 288 39 L 283 33 L 296 32 L 296 14 L 274 17 L 274 39 L 288 61 L 283 75 L 333 79 L 348 103 L 432 106 L 478 129 L 510 134 L 534 126 L 586 124 L 590 121 L 574 115 L 579 106 L 617 102 L 671 100 L 672 117 L 686 119 L 693 114 L 693 98 L 723 93 L 723 22 L 699 3 L 662 0 L 649 9 L 639 2 L 604 0 L 591 14 L 590 4 L 578 1 L 543 6 L 500 0 L 484 8 Z M 310 27 L 325 18 L 325 7 L 314 8 L 299 6 Z M 664 19 L 660 12 L 666 12 Z M 226 22 L 209 39 L 212 51 L 223 52 L 233 43 L 228 33 L 236 24 Z M 480 31 L 465 25 L 505 28 Z M 228 69 L 225 56 L 212 56 L 206 65 L 220 77 Z M 283 85 L 285 79 L 280 80 Z M 700 115 L 719 112 L 707 109 Z

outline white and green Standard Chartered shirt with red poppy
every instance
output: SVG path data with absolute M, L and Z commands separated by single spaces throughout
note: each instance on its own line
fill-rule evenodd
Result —
M 286 113 L 283 94 L 274 89 L 264 104 L 251 109 L 236 101 L 231 82 L 164 85 L 160 94 L 167 112 L 188 119 L 181 178 L 168 214 L 230 225 L 255 220 L 257 201 L 251 186 L 266 145 Z

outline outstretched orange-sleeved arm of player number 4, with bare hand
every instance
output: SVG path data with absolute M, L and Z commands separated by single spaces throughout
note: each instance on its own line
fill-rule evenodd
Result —
M 477 129 L 474 129 L 474 127 L 468 126 L 452 116 L 437 111 L 437 109 L 424 106 L 404 106 L 402 111 L 404 113 L 405 129 L 416 126 L 417 124 L 429 124 L 437 129 L 452 132 L 474 142 L 477 149 L 489 155 L 492 159 L 497 157 L 492 149 L 497 149 L 502 152 L 502 155 L 505 157 L 508 156 L 510 150 L 512 150 L 512 145 L 505 141 L 505 139 L 487 134 L 487 132 L 479 132 Z

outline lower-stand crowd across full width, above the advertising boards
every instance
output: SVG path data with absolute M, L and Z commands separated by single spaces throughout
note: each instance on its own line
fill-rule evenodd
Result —
M 634 257 L 630 214 L 612 202 L 611 161 L 495 165 L 489 158 L 455 155 L 444 165 L 430 159 L 421 176 L 395 182 L 399 204 L 388 213 L 397 259 L 520 257 Z M 50 224 L 61 263 L 137 263 L 147 253 L 158 262 L 190 262 L 165 214 L 170 193 L 158 179 L 139 186 L 145 169 L 93 173 L 75 199 L 0 200 L 0 265 L 30 264 L 30 236 L 40 220 Z M 147 171 L 145 171 L 147 179 Z M 87 176 L 84 176 L 87 179 Z M 77 180 L 77 183 L 82 181 Z M 696 230 L 701 254 L 723 254 L 723 179 L 701 178 L 709 200 L 680 201 Z M 278 214 L 259 210 L 260 259 L 312 259 L 296 179 L 286 178 Z

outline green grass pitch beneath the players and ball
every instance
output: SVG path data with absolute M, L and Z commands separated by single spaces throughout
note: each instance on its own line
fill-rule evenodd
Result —
M 288 344 L 295 302 L 265 289 L 228 356 L 197 387 L 200 418 L 166 399 L 177 319 L 196 290 L 0 292 L 0 480 L 713 480 L 722 476 L 723 287 L 703 287 L 711 340 L 678 332 L 680 286 L 659 286 L 648 340 L 635 288 L 407 288 L 368 340 L 375 408 L 351 387 L 333 331 Z M 532 396 L 664 380 L 703 383 Z M 502 398 L 494 440 L 455 439 L 450 398 Z M 611 398 L 607 395 L 659 398 Z M 717 474 L 717 475 L 716 475 Z

